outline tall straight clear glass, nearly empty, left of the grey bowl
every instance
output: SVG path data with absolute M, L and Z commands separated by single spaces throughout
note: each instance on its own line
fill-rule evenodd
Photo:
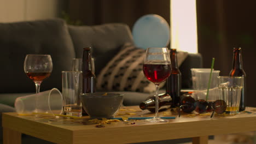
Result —
M 62 71 L 63 115 L 82 117 L 81 71 Z

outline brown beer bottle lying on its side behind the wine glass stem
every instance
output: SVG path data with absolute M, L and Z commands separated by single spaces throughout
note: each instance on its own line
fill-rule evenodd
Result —
M 172 98 L 168 94 L 159 94 L 159 111 L 168 109 L 171 106 Z M 148 97 L 145 101 L 139 104 L 142 110 L 155 112 L 155 96 Z

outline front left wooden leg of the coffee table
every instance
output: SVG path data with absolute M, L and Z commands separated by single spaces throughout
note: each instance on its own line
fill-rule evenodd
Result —
M 3 144 L 21 144 L 21 133 L 3 127 Z

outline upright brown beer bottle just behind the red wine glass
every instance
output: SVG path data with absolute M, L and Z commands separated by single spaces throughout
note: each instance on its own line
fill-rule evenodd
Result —
M 176 49 L 171 49 L 170 58 L 172 70 L 171 75 L 166 80 L 166 93 L 171 95 L 171 107 L 176 107 L 179 106 L 179 97 L 181 95 L 181 71 L 178 68 Z

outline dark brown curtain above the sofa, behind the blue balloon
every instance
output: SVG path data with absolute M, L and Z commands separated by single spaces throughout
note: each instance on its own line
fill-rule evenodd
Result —
M 70 0 L 68 14 L 84 25 L 121 22 L 130 28 L 139 17 L 157 14 L 170 25 L 170 0 Z

